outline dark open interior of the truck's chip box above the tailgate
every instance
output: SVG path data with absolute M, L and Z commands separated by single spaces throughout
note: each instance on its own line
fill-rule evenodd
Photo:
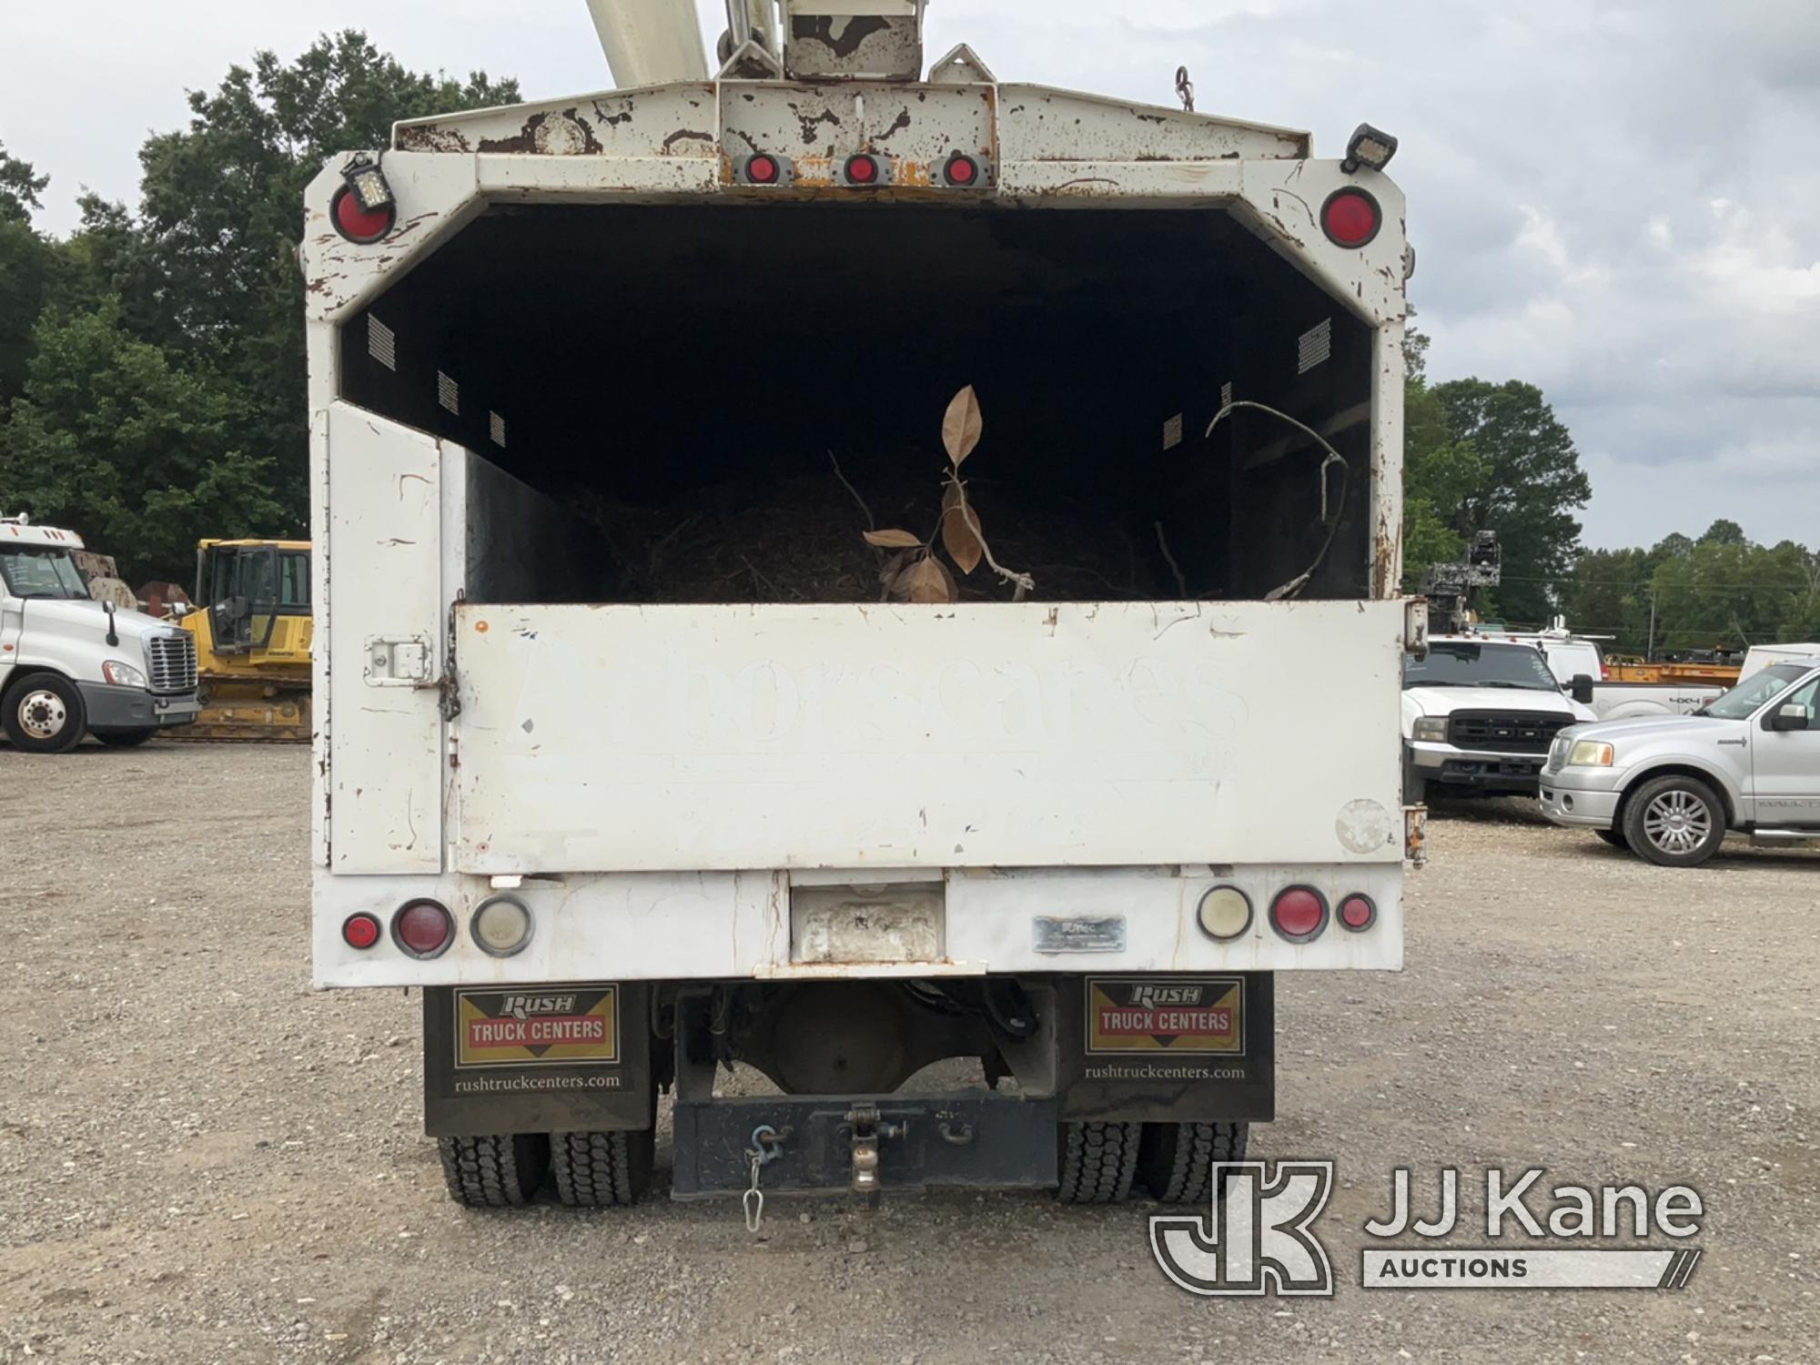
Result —
M 340 395 L 597 533 L 515 601 L 877 601 L 861 531 L 935 526 L 966 384 L 1036 601 L 1370 595 L 1370 328 L 1228 213 L 808 200 L 493 206 L 344 324 Z M 1343 464 L 1208 439 L 1232 397 Z

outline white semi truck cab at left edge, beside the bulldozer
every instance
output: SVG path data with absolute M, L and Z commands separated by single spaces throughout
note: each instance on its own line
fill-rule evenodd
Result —
M 96 602 L 82 537 L 0 517 L 0 728 L 24 753 L 142 744 L 197 719 L 195 635 Z

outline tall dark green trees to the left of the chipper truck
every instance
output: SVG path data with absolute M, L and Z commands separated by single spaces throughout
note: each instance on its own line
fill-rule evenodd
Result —
M 140 147 L 138 206 L 51 184 L 0 146 L 0 511 L 69 526 L 133 582 L 187 581 L 202 537 L 308 535 L 304 187 L 391 124 L 519 100 L 408 71 L 357 31 L 258 53 Z

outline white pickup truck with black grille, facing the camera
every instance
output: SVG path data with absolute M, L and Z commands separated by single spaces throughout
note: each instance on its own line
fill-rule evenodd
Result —
M 1592 679 L 1562 684 L 1532 644 L 1432 635 L 1403 664 L 1403 801 L 1534 795 L 1554 735 L 1596 721 Z

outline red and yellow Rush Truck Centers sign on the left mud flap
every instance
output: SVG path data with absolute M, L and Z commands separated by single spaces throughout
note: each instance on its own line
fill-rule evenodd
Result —
M 619 986 L 457 990 L 455 1067 L 619 1061 Z

